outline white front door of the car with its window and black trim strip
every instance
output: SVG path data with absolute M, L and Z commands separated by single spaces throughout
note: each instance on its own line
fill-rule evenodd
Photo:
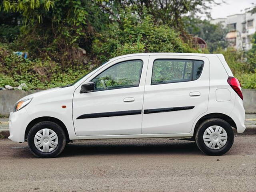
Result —
M 142 133 L 142 103 L 149 56 L 114 60 L 94 73 L 95 90 L 74 92 L 73 120 L 76 135 Z

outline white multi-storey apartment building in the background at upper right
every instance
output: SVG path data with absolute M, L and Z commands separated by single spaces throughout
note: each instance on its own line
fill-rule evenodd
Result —
M 256 14 L 234 14 L 227 18 L 217 18 L 210 21 L 212 24 L 221 23 L 229 29 L 226 38 L 229 45 L 237 50 L 252 48 L 252 36 L 256 32 Z

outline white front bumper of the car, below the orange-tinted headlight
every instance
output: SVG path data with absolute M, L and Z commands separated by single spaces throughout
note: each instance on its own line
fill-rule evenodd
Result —
M 9 117 L 10 136 L 8 138 L 15 142 L 25 142 L 25 131 L 29 122 L 30 116 L 26 108 L 11 112 Z

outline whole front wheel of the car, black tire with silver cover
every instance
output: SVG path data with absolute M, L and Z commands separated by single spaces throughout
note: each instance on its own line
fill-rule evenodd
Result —
M 56 157 L 64 150 L 65 146 L 65 132 L 54 122 L 39 122 L 28 132 L 28 148 L 36 157 Z

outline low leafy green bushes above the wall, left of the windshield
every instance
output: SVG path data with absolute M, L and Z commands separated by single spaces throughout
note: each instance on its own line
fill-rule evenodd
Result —
M 21 83 L 26 83 L 29 89 L 63 86 L 86 74 L 88 66 L 61 69 L 60 64 L 50 58 L 24 59 L 0 44 L 0 86 L 18 86 Z

